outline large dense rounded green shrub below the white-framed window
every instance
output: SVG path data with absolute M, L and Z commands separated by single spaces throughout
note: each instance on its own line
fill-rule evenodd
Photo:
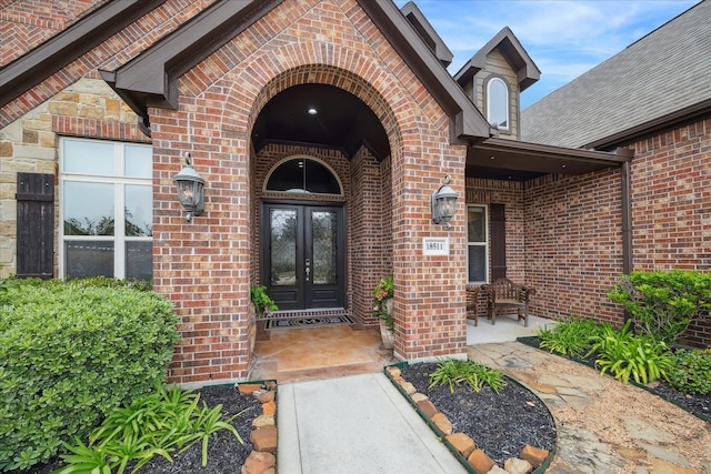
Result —
M 171 303 L 130 283 L 18 280 L 0 292 L 0 471 L 46 462 L 166 376 Z

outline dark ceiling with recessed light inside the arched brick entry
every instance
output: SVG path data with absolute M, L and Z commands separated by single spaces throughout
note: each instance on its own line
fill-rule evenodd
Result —
M 356 95 L 327 84 L 293 85 L 277 94 L 257 118 L 252 141 L 257 151 L 276 142 L 336 148 L 349 159 L 361 145 L 378 160 L 390 154 L 388 134 L 373 111 Z

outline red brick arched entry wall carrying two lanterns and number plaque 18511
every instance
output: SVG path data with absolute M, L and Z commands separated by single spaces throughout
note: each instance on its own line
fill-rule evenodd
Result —
M 391 182 L 383 189 L 392 190 L 387 225 L 393 230 L 398 353 L 413 360 L 465 351 L 463 214 L 447 231 L 431 223 L 429 209 L 429 195 L 447 173 L 463 195 L 464 147 L 449 144 L 448 117 L 354 1 L 284 2 L 181 78 L 178 111 L 150 111 L 154 284 L 182 315 L 171 380 L 247 375 L 253 190 L 261 185 L 249 133 L 272 97 L 304 82 L 359 97 L 389 132 L 391 167 L 381 174 Z M 208 182 L 206 214 L 190 224 L 171 180 L 183 151 L 191 151 Z M 430 235 L 448 235 L 451 255 L 423 258 L 421 240 Z M 370 291 L 370 283 L 358 283 L 357 291 Z

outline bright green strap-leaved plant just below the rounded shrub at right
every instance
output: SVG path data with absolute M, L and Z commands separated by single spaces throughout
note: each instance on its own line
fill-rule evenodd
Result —
M 643 384 L 667 377 L 673 364 L 667 344 L 649 336 L 635 336 L 630 332 L 630 323 L 631 320 L 618 331 L 605 325 L 603 333 L 595 337 L 591 349 L 591 353 L 599 354 L 595 365 L 601 373 L 610 371 L 623 383 L 628 383 L 630 376 Z

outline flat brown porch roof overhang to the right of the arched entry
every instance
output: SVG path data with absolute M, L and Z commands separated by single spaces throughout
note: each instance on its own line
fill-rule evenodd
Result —
M 490 138 L 468 147 L 467 175 L 528 181 L 543 174 L 584 174 L 631 159 L 631 151 L 623 149 L 608 153 Z

